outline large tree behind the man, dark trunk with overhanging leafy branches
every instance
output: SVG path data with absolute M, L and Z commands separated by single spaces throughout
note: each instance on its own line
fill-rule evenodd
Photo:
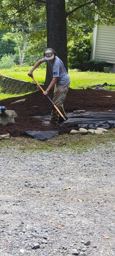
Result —
M 47 16 L 47 47 L 54 48 L 57 55 L 63 60 L 67 69 L 67 35 L 66 22 L 75 23 L 76 27 L 84 24 L 93 26 L 94 15 L 98 13 L 101 19 L 98 22 L 111 24 L 115 22 L 115 1 L 114 0 L 0 0 L 2 10 L 0 16 L 4 23 L 11 24 L 14 17 L 21 17 L 22 20 L 35 17 L 34 24 L 37 24 L 38 12 L 43 11 Z M 45 9 L 46 8 L 46 9 Z M 36 16 L 35 16 L 36 12 Z M 42 18 L 45 14 L 42 15 Z M 47 76 L 48 81 L 48 76 Z

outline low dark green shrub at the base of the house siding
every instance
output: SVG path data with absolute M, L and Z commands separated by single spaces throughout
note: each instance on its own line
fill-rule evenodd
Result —
M 103 68 L 106 67 L 107 62 L 104 60 L 94 59 L 87 62 L 87 70 L 103 72 Z

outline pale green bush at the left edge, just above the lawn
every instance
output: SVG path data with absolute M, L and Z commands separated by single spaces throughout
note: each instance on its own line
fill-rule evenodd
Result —
M 5 54 L 0 61 L 0 69 L 9 69 L 15 65 L 13 55 Z

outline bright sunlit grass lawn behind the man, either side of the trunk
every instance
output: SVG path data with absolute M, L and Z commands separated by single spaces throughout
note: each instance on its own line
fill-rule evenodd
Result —
M 9 70 L 0 70 L 0 75 L 6 75 L 20 80 L 32 81 L 32 78 L 28 76 L 28 72 L 32 67 L 17 68 L 14 67 Z M 45 68 L 38 68 L 34 71 L 34 78 L 39 82 L 43 83 L 45 80 Z M 69 70 L 68 74 L 71 78 L 72 89 L 86 88 L 87 86 L 94 86 L 96 84 L 103 84 L 105 82 L 109 84 L 114 84 L 114 87 L 108 87 L 106 89 L 115 90 L 115 74 L 113 73 L 103 73 L 103 72 L 79 72 L 74 70 Z

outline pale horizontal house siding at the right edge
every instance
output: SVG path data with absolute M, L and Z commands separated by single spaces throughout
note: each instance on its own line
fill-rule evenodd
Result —
M 95 40 L 92 59 L 115 63 L 115 27 L 99 26 L 94 30 Z

